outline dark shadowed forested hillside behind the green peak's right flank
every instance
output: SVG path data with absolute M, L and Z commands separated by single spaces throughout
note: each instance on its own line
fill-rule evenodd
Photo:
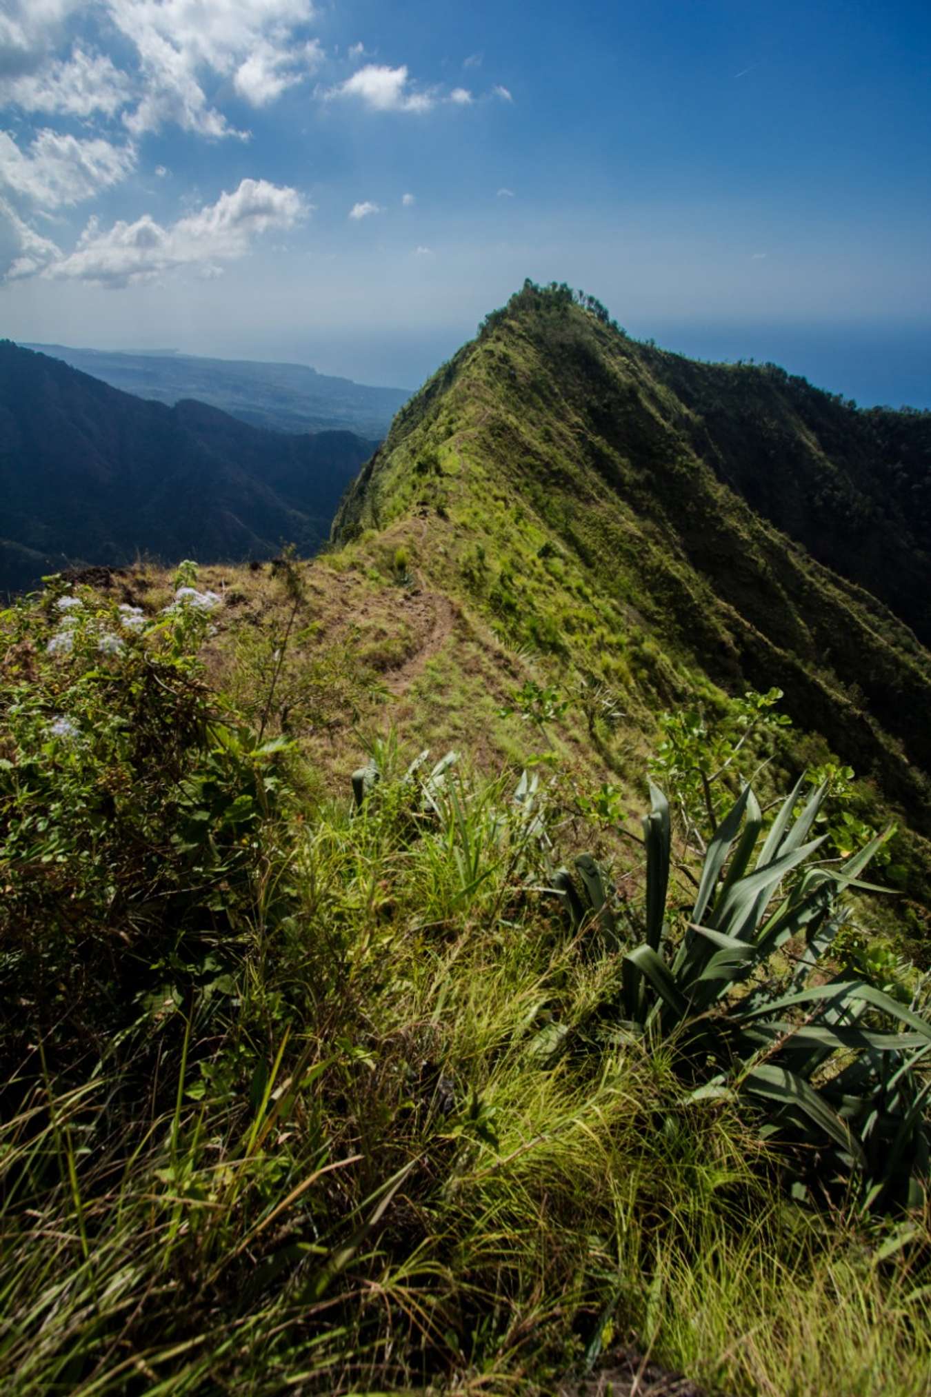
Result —
M 931 412 L 858 409 L 774 365 L 636 351 L 724 483 L 931 641 Z

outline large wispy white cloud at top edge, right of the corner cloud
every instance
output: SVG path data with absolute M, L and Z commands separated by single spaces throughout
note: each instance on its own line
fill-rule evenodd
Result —
M 176 123 L 207 137 L 242 136 L 207 101 L 203 74 L 229 78 L 253 106 L 273 102 L 319 63 L 299 42 L 310 0 L 103 0 L 136 47 L 145 94 L 124 120 L 143 134 Z

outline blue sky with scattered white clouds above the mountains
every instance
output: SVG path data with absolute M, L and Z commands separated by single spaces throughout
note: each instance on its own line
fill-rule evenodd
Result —
M 524 277 L 931 405 L 931 7 L 4 0 L 0 324 L 414 387 Z

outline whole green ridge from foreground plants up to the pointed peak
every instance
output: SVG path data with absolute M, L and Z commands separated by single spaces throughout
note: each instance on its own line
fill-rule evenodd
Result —
M 931 1393 L 928 657 L 656 359 L 530 288 L 313 563 L 0 616 L 4 1390 Z

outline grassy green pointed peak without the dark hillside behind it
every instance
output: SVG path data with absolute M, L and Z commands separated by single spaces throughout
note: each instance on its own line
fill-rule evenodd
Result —
M 931 657 L 698 454 L 710 429 L 664 381 L 686 369 L 524 292 L 398 415 L 344 502 L 337 539 L 365 549 L 377 529 L 405 546 L 428 584 L 530 647 L 559 682 L 589 673 L 612 686 L 633 732 L 649 733 L 658 708 L 713 704 L 719 687 L 779 685 L 795 724 L 927 835 Z M 748 372 L 707 369 L 728 388 Z M 774 412 L 773 376 L 756 374 L 751 387 Z M 780 391 L 781 430 L 809 440 L 791 398 L 805 407 L 814 390 Z M 759 450 L 759 432 L 745 440 Z

